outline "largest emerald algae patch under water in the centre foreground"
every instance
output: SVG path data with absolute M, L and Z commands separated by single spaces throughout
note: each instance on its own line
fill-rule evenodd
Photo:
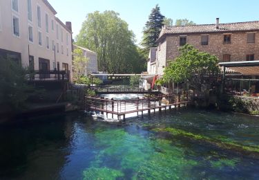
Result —
M 185 159 L 182 147 L 172 145 L 169 140 L 145 138 L 124 129 L 108 129 L 95 134 L 95 138 L 96 146 L 102 150 L 96 154 L 92 168 L 84 172 L 88 177 L 96 171 L 102 172 L 107 159 L 113 159 L 108 168 L 117 169 L 131 179 L 179 179 L 188 177 L 187 172 L 198 165 Z

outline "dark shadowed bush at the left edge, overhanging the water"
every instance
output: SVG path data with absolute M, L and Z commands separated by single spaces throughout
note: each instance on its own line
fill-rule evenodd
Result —
M 26 82 L 29 71 L 0 57 L 0 111 L 20 111 L 35 89 Z

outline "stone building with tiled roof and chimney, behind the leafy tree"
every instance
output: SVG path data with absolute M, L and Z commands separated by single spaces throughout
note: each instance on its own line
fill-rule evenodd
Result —
M 259 21 L 163 27 L 157 39 L 157 73 L 178 57 L 180 46 L 191 44 L 216 55 L 220 62 L 259 60 Z

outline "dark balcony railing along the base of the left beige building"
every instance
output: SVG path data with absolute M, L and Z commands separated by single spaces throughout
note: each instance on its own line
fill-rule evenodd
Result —
M 68 81 L 69 80 L 69 71 L 42 71 L 34 70 L 30 71 L 26 75 L 28 81 Z

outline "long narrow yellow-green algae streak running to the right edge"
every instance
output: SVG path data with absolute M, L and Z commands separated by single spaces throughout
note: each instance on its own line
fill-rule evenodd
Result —
M 172 127 L 167 128 L 154 128 L 154 132 L 169 132 L 173 136 L 182 136 L 185 138 L 190 138 L 195 141 L 202 141 L 205 143 L 210 143 L 216 145 L 217 147 L 223 148 L 225 150 L 238 150 L 239 152 L 253 153 L 253 155 L 259 156 L 259 146 L 253 145 L 240 145 L 236 142 L 226 141 L 226 138 L 209 138 L 200 134 L 193 134 L 191 132 L 186 132 L 182 129 L 175 129 Z

